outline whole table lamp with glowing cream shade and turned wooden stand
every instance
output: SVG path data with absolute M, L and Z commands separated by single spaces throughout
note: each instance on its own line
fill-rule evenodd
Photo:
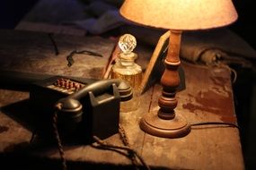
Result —
M 162 95 L 157 112 L 147 113 L 140 128 L 163 138 L 180 138 L 190 133 L 190 123 L 175 112 L 176 89 L 180 84 L 178 67 L 182 30 L 207 30 L 224 27 L 238 15 L 232 0 L 126 0 L 120 14 L 138 24 L 171 31 L 165 70 L 161 78 Z

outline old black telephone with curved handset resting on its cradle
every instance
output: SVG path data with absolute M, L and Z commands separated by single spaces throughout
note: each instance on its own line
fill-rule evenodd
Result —
M 30 100 L 38 120 L 37 133 L 52 135 L 52 117 L 62 139 L 101 139 L 119 132 L 119 102 L 132 98 L 132 89 L 119 79 L 75 80 L 52 77 L 31 87 Z

